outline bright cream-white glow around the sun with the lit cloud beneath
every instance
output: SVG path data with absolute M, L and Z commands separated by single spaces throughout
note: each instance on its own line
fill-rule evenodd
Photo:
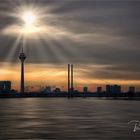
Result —
M 59 39 L 73 35 L 65 28 L 49 23 L 52 19 L 57 19 L 57 17 L 50 13 L 48 7 L 43 9 L 32 4 L 30 6 L 23 4 L 15 7 L 15 11 L 9 15 L 16 18 L 17 22 L 3 28 L 2 34 L 4 35 L 24 36 L 28 39 L 37 38 L 39 40 L 47 36 L 47 41 L 49 41 L 48 36 Z

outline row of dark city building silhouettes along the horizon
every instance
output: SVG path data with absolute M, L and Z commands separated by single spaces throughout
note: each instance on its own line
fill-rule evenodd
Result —
M 71 69 L 69 67 L 70 65 L 68 64 L 68 73 L 70 72 L 69 70 Z M 73 67 L 73 65 L 72 65 Z M 72 68 L 73 69 L 73 68 Z M 71 70 L 72 70 L 71 69 Z M 73 73 L 73 72 L 72 72 Z M 21 72 L 22 75 L 22 72 Z M 6 93 L 6 94 L 11 94 L 11 93 L 20 93 L 21 96 L 27 93 L 46 93 L 46 94 L 51 94 L 51 93 L 67 93 L 67 95 L 72 96 L 77 93 L 96 93 L 96 95 L 100 95 L 101 93 L 107 94 L 110 93 L 112 95 L 119 94 L 119 95 L 124 95 L 127 93 L 135 93 L 139 94 L 140 91 L 136 90 L 135 86 L 130 85 L 126 91 L 122 90 L 122 85 L 104 85 L 104 86 L 97 86 L 96 91 L 89 90 L 88 86 L 83 86 L 81 90 L 79 90 L 77 87 L 74 87 L 73 84 L 73 78 L 70 76 L 71 74 L 68 74 L 68 87 L 67 89 L 64 90 L 64 87 L 58 87 L 58 86 L 52 86 L 52 85 L 36 85 L 38 87 L 38 90 L 34 90 L 34 86 L 26 86 L 23 88 L 23 83 L 22 83 L 22 78 L 21 78 L 21 87 L 20 91 L 17 91 L 17 89 L 12 88 L 12 82 L 11 81 L 0 81 L 0 93 Z M 33 89 L 33 90 L 32 90 Z

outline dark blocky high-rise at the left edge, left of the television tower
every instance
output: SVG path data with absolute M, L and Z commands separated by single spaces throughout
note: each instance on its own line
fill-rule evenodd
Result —
M 9 93 L 11 90 L 11 81 L 0 81 L 0 93 Z

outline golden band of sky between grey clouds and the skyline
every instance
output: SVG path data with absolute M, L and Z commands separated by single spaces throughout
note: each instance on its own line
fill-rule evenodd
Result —
M 139 87 L 139 80 L 125 80 L 125 79 L 102 79 L 97 78 L 96 71 L 101 67 L 93 66 L 86 68 L 84 65 L 74 65 L 74 87 L 75 89 L 82 90 L 83 86 L 88 86 L 89 90 L 96 91 L 97 86 L 105 86 L 106 84 L 119 84 L 122 85 L 123 90 L 127 90 L 128 86 Z M 18 89 L 20 87 L 20 62 L 17 64 L 9 65 L 5 63 L 0 69 L 0 80 L 12 81 L 12 87 Z M 93 72 L 90 77 L 88 72 L 89 68 Z M 95 77 L 95 78 L 94 78 Z M 60 87 L 67 90 L 67 65 L 45 65 L 45 64 L 26 64 L 25 63 L 25 87 L 34 87 L 31 90 L 39 90 L 40 87 L 52 86 Z M 139 89 L 139 88 L 138 88 Z

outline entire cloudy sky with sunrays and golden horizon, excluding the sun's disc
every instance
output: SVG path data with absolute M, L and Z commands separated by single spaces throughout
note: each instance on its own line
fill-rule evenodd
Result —
M 27 10 L 37 17 L 37 32 L 22 32 Z M 0 0 L 0 80 L 18 89 L 24 40 L 28 86 L 66 89 L 67 64 L 73 63 L 75 88 L 121 84 L 139 90 L 139 25 L 139 0 Z

